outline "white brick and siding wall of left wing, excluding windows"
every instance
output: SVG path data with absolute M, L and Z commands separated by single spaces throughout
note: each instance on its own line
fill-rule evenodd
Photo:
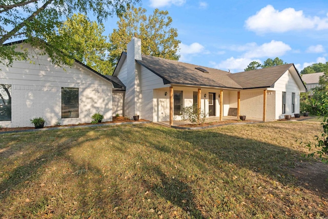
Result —
M 63 68 L 37 56 L 34 63 L 16 61 L 12 67 L 0 66 L 1 84 L 12 85 L 12 120 L 3 127 L 33 126 L 30 119 L 43 116 L 46 126 L 61 118 L 61 87 L 79 88 L 79 118 L 63 118 L 62 124 L 91 121 L 100 112 L 104 121 L 112 120 L 112 83 L 75 63 Z

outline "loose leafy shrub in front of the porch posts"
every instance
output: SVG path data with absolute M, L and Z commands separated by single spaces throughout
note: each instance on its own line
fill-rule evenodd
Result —
M 191 123 L 197 123 L 201 125 L 205 122 L 206 116 L 208 113 L 205 113 L 203 110 L 197 107 L 197 104 L 194 104 L 190 107 L 182 108 L 182 121 L 189 121 Z

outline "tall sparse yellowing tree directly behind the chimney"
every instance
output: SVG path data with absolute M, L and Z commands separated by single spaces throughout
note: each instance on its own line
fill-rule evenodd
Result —
M 110 34 L 110 56 L 113 63 L 117 63 L 121 52 L 127 50 L 127 44 L 133 36 L 141 39 L 141 51 L 145 55 L 152 55 L 167 59 L 178 60 L 179 43 L 177 29 L 171 28 L 172 18 L 168 11 L 154 10 L 146 16 L 146 9 L 131 7 L 117 22 L 118 29 Z

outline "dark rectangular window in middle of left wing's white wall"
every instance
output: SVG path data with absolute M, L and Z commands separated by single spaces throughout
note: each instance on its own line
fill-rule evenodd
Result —
M 78 88 L 61 88 L 61 118 L 78 118 Z

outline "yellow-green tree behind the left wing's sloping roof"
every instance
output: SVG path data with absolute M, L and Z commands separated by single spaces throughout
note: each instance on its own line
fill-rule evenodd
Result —
M 109 61 L 110 43 L 107 37 L 102 35 L 105 28 L 103 24 L 90 22 L 83 14 L 73 14 L 71 18 L 60 24 L 58 35 L 47 40 L 52 44 L 57 38 L 65 40 L 60 51 L 77 59 L 101 74 L 109 74 L 112 70 Z

